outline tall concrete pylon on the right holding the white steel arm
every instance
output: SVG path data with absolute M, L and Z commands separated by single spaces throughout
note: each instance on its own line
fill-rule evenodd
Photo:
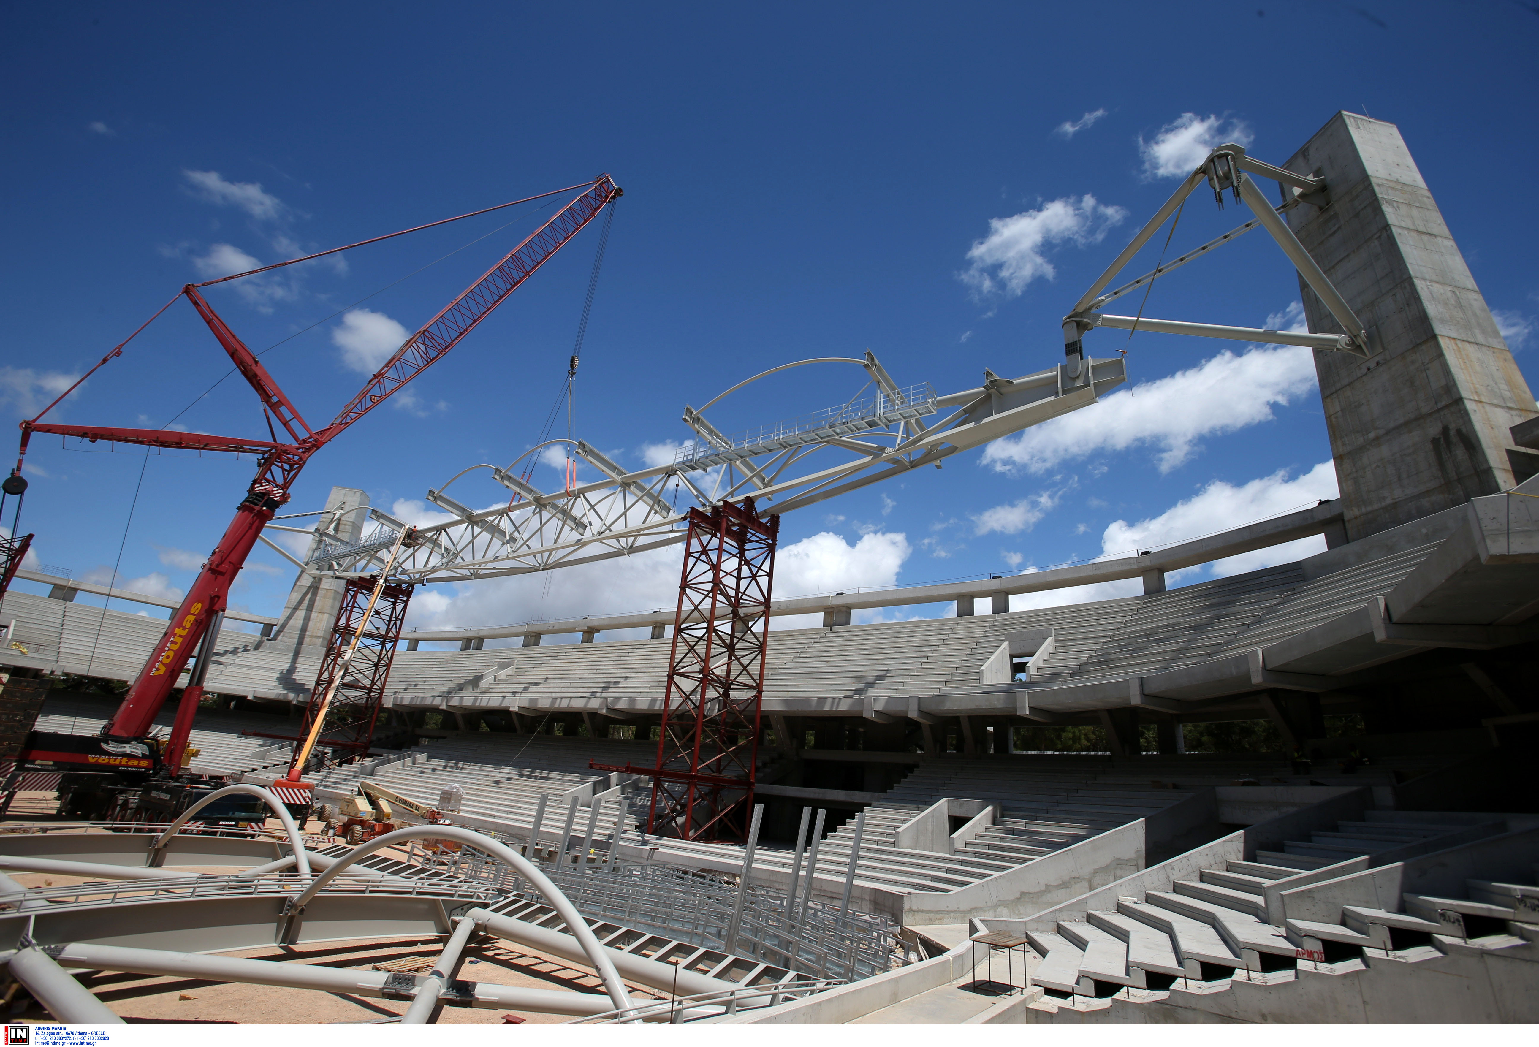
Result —
M 1337 112 L 1284 166 L 1325 177 L 1325 206 L 1288 225 L 1376 340 L 1367 360 L 1314 353 L 1348 537 L 1511 487 L 1534 397 L 1399 128 Z M 1299 286 L 1310 329 L 1339 333 Z

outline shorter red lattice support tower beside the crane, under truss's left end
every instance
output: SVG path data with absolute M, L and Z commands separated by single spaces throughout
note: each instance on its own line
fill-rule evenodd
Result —
M 389 681 L 389 667 L 396 657 L 396 644 L 400 641 L 400 627 L 406 621 L 406 604 L 411 602 L 412 590 L 411 585 L 399 582 L 389 582 L 380 590 L 380 597 L 374 602 L 374 613 L 359 639 L 352 661 L 345 661 L 343 656 L 352 644 L 352 636 L 368 613 L 374 585 L 376 579 L 372 577 L 349 577 L 346 590 L 342 593 L 337 622 L 331 628 L 331 644 L 320 662 L 315 690 L 309 693 L 305 722 L 299 731 L 300 739 L 309 736 L 311 724 L 315 722 L 315 713 L 326 690 L 340 673 L 342 681 L 331 699 L 326 727 L 315 741 L 315 748 L 351 750 L 351 754 L 362 756 L 374 739 L 374 722 L 385 702 L 385 684 Z

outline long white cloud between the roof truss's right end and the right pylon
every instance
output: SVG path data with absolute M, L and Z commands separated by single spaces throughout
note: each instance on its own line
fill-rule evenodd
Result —
M 1205 436 L 1270 422 L 1274 403 L 1291 403 L 1316 385 L 1314 357 L 1302 346 L 1230 351 L 1099 403 L 988 445 L 983 462 L 1000 473 L 1045 473 L 1060 462 L 1139 445 L 1159 448 L 1162 473 L 1185 463 Z

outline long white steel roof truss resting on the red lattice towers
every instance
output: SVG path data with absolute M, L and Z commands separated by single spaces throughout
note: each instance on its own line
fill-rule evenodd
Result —
M 723 396 L 810 363 L 862 366 L 877 393 L 737 437 L 725 436 L 706 420 L 705 408 Z M 1108 359 L 1076 360 L 1073 371 L 1059 365 L 1019 379 L 1002 379 L 990 371 L 983 376 L 980 388 L 937 396 L 928 383 L 899 386 L 870 351 L 865 359 L 797 360 L 739 382 L 705 408 L 686 406 L 683 420 L 694 430 L 696 440 L 666 465 L 628 473 L 583 440 L 540 443 L 506 468 L 472 465 L 428 491 L 428 500 L 456 519 L 419 528 L 423 542 L 402 556 L 396 574 L 422 582 L 474 580 L 677 545 L 686 539 L 688 502 L 709 510 L 753 496 L 774 513 L 790 513 L 923 465 L 939 465 L 959 451 L 1094 403 L 1127 380 L 1127 370 L 1120 359 Z M 569 448 L 603 479 L 554 493 L 537 490 L 520 474 L 520 463 L 553 447 Z M 822 456 L 813 462 L 817 453 Z M 845 460 L 828 463 L 830 456 L 839 453 Z M 474 510 L 446 493 L 476 470 L 489 470 L 492 479 L 512 493 L 506 505 Z M 674 503 L 680 493 L 683 508 Z M 362 540 L 323 540 L 306 562 L 263 540 L 311 574 L 366 576 L 377 570 L 406 527 L 377 510 L 366 511 L 377 527 Z M 319 513 L 282 519 L 302 516 Z M 312 533 L 294 527 L 283 530 Z

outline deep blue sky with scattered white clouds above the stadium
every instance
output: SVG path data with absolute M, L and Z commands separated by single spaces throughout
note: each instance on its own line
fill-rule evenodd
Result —
M 1530 3 L 63 3 L 3 18 L 8 423 L 185 282 L 243 257 L 274 262 L 608 171 L 626 196 L 583 346 L 576 434 L 640 467 L 648 447 L 686 439 L 685 403 L 796 359 L 871 348 L 900 385 L 942 391 L 976 385 L 983 368 L 1054 365 L 1059 319 L 1170 194 L 1171 169 L 1227 139 L 1280 163 L 1337 109 L 1400 126 L 1519 365 L 1539 379 Z M 1193 205 L 1173 253 L 1244 220 L 1200 196 Z M 252 348 L 279 343 L 265 362 L 306 417 L 325 420 L 392 323 L 423 323 L 542 214 L 474 219 L 209 299 Z M 573 350 L 596 232 L 414 383 L 409 402 L 317 454 L 292 508 L 319 508 L 343 483 L 422 514 L 426 488 L 534 443 Z M 1296 300 L 1294 276 L 1257 232 L 1160 280 L 1148 314 L 1287 323 Z M 1131 394 L 788 514 L 779 594 L 1042 568 L 1334 490 L 1307 353 L 1225 354 L 1116 331 L 1088 345 L 1127 348 Z M 226 370 L 182 303 L 51 417 L 260 436 L 246 386 L 205 396 Z M 726 431 L 774 422 L 862 382 L 854 368 L 803 368 L 713 416 Z M 252 470 L 51 439 L 28 467 L 22 530 L 37 533 L 40 562 L 106 580 L 122 545 L 120 582 L 168 594 L 191 582 Z M 651 610 L 671 605 L 676 570 L 663 554 L 548 582 L 429 587 L 412 617 Z M 275 613 L 291 580 L 259 550 L 234 602 Z

